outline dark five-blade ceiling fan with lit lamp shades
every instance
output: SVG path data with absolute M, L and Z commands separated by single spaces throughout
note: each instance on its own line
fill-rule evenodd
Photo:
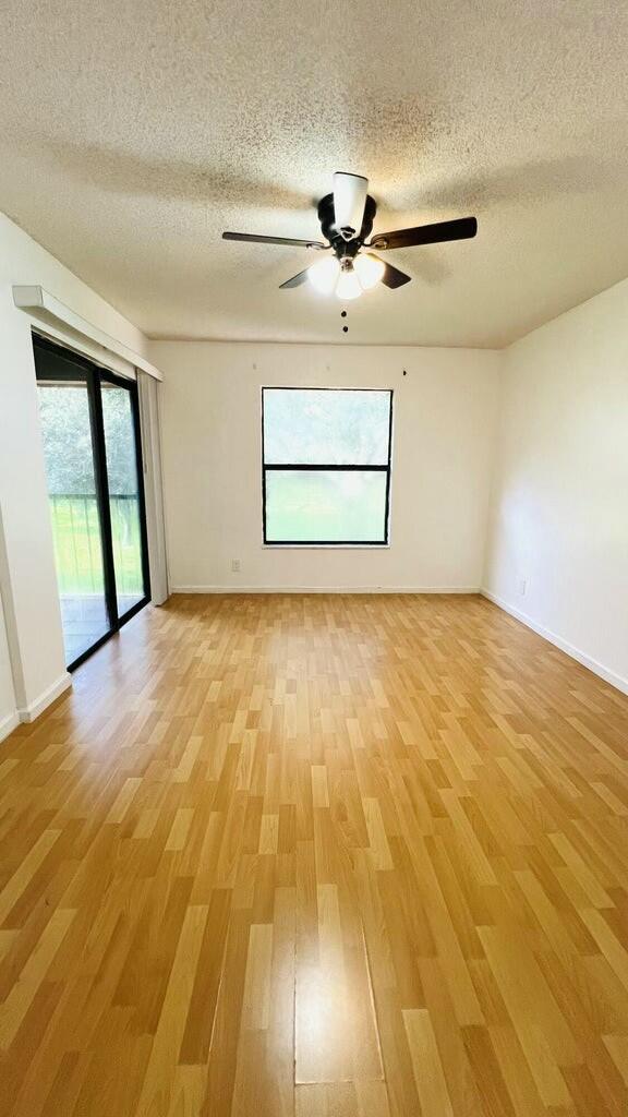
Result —
M 333 193 L 325 194 L 318 202 L 322 240 L 295 240 L 293 237 L 258 237 L 250 232 L 223 232 L 223 240 L 250 240 L 259 245 L 293 245 L 316 251 L 332 251 L 316 260 L 292 279 L 286 279 L 280 289 L 301 287 L 307 279 L 323 295 L 335 292 L 341 299 L 358 298 L 378 283 L 394 289 L 410 283 L 411 276 L 400 271 L 392 264 L 384 262 L 371 251 L 383 252 L 390 248 L 411 248 L 416 245 L 437 245 L 446 240 L 465 240 L 475 237 L 477 221 L 474 217 L 454 221 L 437 221 L 435 225 L 416 226 L 412 229 L 397 229 L 393 232 L 377 232 L 368 241 L 377 213 L 377 202 L 368 193 L 369 180 L 361 174 L 336 171 Z M 368 251 L 364 251 L 368 249 Z

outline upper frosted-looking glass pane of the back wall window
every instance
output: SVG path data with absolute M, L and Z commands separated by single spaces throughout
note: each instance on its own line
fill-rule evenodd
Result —
M 388 391 L 264 389 L 266 465 L 388 465 Z

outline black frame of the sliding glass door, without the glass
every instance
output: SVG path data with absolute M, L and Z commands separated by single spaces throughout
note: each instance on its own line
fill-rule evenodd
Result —
M 120 376 L 110 369 L 105 369 L 102 365 L 96 364 L 87 356 L 83 356 L 80 353 L 75 353 L 74 350 L 65 349 L 63 345 L 57 345 L 49 341 L 47 337 L 42 337 L 36 331 L 32 331 L 32 346 L 35 353 L 36 372 L 38 382 L 46 383 L 46 380 L 59 381 L 59 380 L 72 380 L 72 367 L 68 369 L 67 365 L 74 365 L 79 373 L 80 380 L 85 381 L 87 389 L 87 400 L 89 404 L 89 419 L 91 419 L 91 432 L 92 432 L 92 454 L 94 459 L 94 480 L 96 489 L 96 506 L 98 509 L 98 519 L 101 524 L 101 547 L 103 554 L 103 577 L 104 577 L 104 596 L 105 605 L 107 611 L 107 617 L 110 621 L 110 629 L 104 636 L 99 637 L 89 646 L 85 651 L 83 651 L 76 659 L 73 659 L 70 663 L 67 665 L 68 671 L 73 671 L 76 667 L 79 667 L 94 651 L 102 648 L 106 641 L 120 632 L 121 628 L 131 620 L 135 613 L 139 613 L 144 605 L 151 600 L 151 579 L 149 570 L 149 540 L 146 532 L 146 502 L 144 494 L 144 460 L 142 455 L 142 431 L 140 426 L 140 401 L 137 393 L 137 382 L 135 380 L 127 380 L 125 376 Z M 60 363 L 60 367 L 55 370 L 55 372 L 47 376 L 47 369 L 37 361 L 38 350 L 45 353 L 44 360 L 47 363 L 56 365 Z M 65 366 L 65 367 L 64 367 Z M 103 420 L 103 401 L 101 393 L 101 384 L 103 381 L 114 384 L 116 388 L 123 388 L 129 392 L 130 403 L 131 403 L 131 417 L 133 422 L 133 435 L 135 439 L 135 467 L 137 474 L 137 504 L 140 512 L 140 538 L 141 538 L 141 551 L 142 551 L 142 583 L 144 593 L 140 601 L 136 601 L 134 605 L 127 609 L 124 613 L 120 614 L 117 609 L 117 594 L 116 594 L 116 579 L 115 579 L 115 562 L 113 553 L 113 532 L 112 532 L 112 519 L 111 519 L 111 504 L 110 504 L 110 486 L 108 486 L 108 475 L 107 475 L 107 459 L 106 459 L 106 442 L 105 442 L 105 426 Z

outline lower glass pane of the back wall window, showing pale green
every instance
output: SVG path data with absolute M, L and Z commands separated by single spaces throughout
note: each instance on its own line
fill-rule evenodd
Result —
M 386 543 L 383 470 L 266 470 L 267 543 Z

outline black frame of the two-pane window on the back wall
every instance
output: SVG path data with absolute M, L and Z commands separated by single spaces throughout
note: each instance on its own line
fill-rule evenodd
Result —
M 265 392 L 379 392 L 389 397 L 388 461 L 386 465 L 299 465 L 298 462 L 266 462 L 264 428 Z M 261 388 L 261 529 L 264 545 L 268 547 L 388 547 L 390 546 L 390 485 L 392 470 L 392 388 L 327 388 L 320 384 L 266 384 Z M 276 470 L 295 472 L 359 472 L 386 474 L 384 537 L 383 540 L 269 540 L 266 516 L 266 474 Z

